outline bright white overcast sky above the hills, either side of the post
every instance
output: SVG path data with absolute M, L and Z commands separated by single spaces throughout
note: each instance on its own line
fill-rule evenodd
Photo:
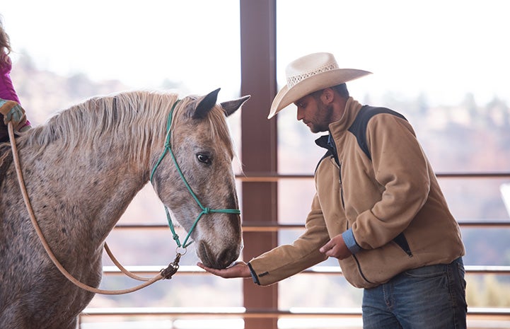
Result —
M 508 4 L 507 4 L 508 3 Z M 349 86 L 431 103 L 474 93 L 510 103 L 508 1 L 279 0 L 277 63 L 327 51 L 340 67 L 372 71 Z M 183 81 L 201 93 L 235 93 L 238 0 L 3 1 L 0 14 L 17 54 L 59 74 L 85 73 L 152 88 Z

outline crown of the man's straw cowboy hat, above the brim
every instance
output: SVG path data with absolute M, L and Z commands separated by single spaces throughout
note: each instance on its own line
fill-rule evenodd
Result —
M 297 83 L 325 71 L 338 69 L 335 57 L 328 52 L 318 52 L 296 59 L 287 65 L 285 75 L 287 86 L 292 88 Z

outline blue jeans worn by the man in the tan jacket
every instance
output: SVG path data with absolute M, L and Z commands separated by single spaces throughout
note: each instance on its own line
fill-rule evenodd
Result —
M 464 265 L 419 267 L 364 289 L 364 329 L 465 329 Z

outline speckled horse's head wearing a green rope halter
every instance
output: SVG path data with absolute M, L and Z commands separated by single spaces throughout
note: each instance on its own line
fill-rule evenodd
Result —
M 151 157 L 151 182 L 173 219 L 188 232 L 187 238 L 195 241 L 200 260 L 224 268 L 242 248 L 226 117 L 250 96 L 216 104 L 218 93 L 219 89 L 206 96 L 187 96 L 173 105 L 163 154 Z

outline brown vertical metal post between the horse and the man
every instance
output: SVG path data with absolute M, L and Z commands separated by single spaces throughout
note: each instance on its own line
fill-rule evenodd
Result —
M 244 171 L 277 172 L 277 123 L 267 120 L 276 79 L 276 0 L 240 0 L 241 94 L 252 98 L 241 112 L 241 157 Z M 277 222 L 277 183 L 244 182 L 243 223 Z M 277 246 L 276 232 L 245 232 L 243 258 Z M 278 309 L 278 287 L 243 284 L 247 310 Z M 277 329 L 277 318 L 245 318 L 245 329 Z

